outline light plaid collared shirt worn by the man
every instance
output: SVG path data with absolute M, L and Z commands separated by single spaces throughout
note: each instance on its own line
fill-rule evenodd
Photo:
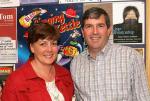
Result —
M 77 101 L 150 101 L 143 57 L 130 47 L 108 43 L 90 57 L 75 57 L 71 74 Z

